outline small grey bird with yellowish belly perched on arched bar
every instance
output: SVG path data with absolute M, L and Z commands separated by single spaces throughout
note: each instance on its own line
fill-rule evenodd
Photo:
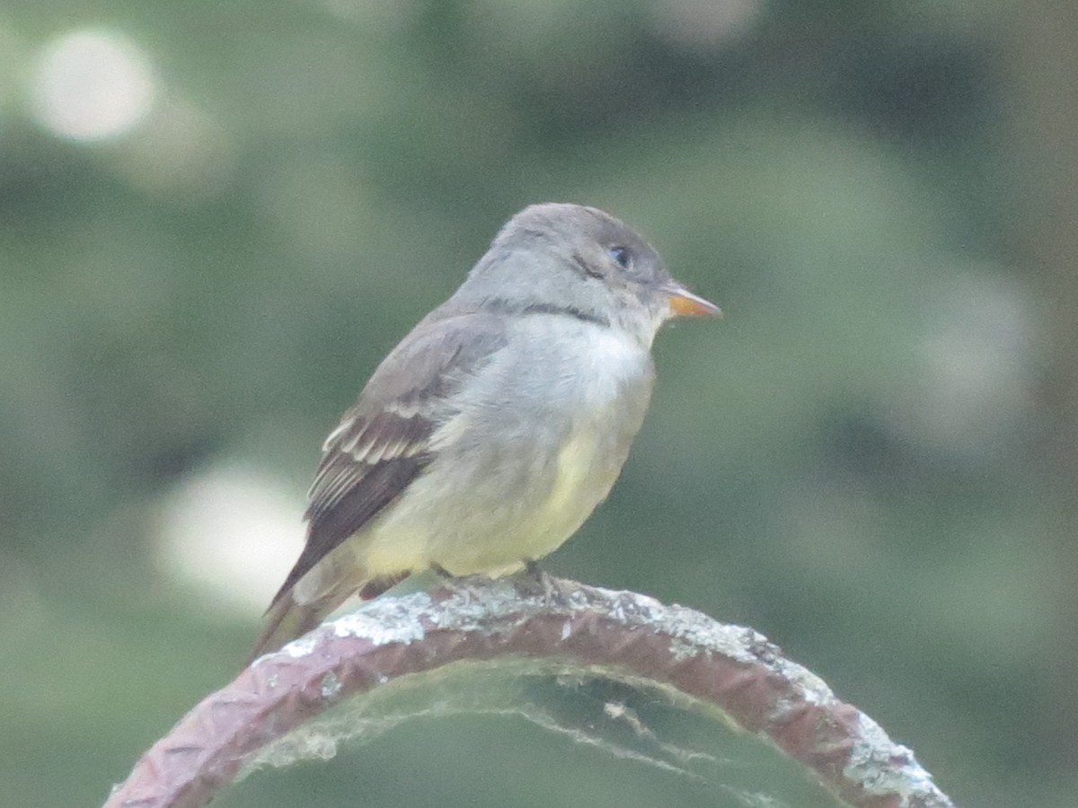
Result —
M 413 572 L 497 577 L 561 546 L 644 422 L 659 328 L 708 315 L 609 213 L 513 215 L 326 438 L 306 542 L 250 660 Z

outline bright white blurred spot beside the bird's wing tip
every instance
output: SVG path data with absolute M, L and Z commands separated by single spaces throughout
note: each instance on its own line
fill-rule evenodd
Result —
M 166 498 L 158 561 L 215 605 L 261 614 L 300 555 L 302 513 L 302 500 L 271 477 L 211 469 Z

